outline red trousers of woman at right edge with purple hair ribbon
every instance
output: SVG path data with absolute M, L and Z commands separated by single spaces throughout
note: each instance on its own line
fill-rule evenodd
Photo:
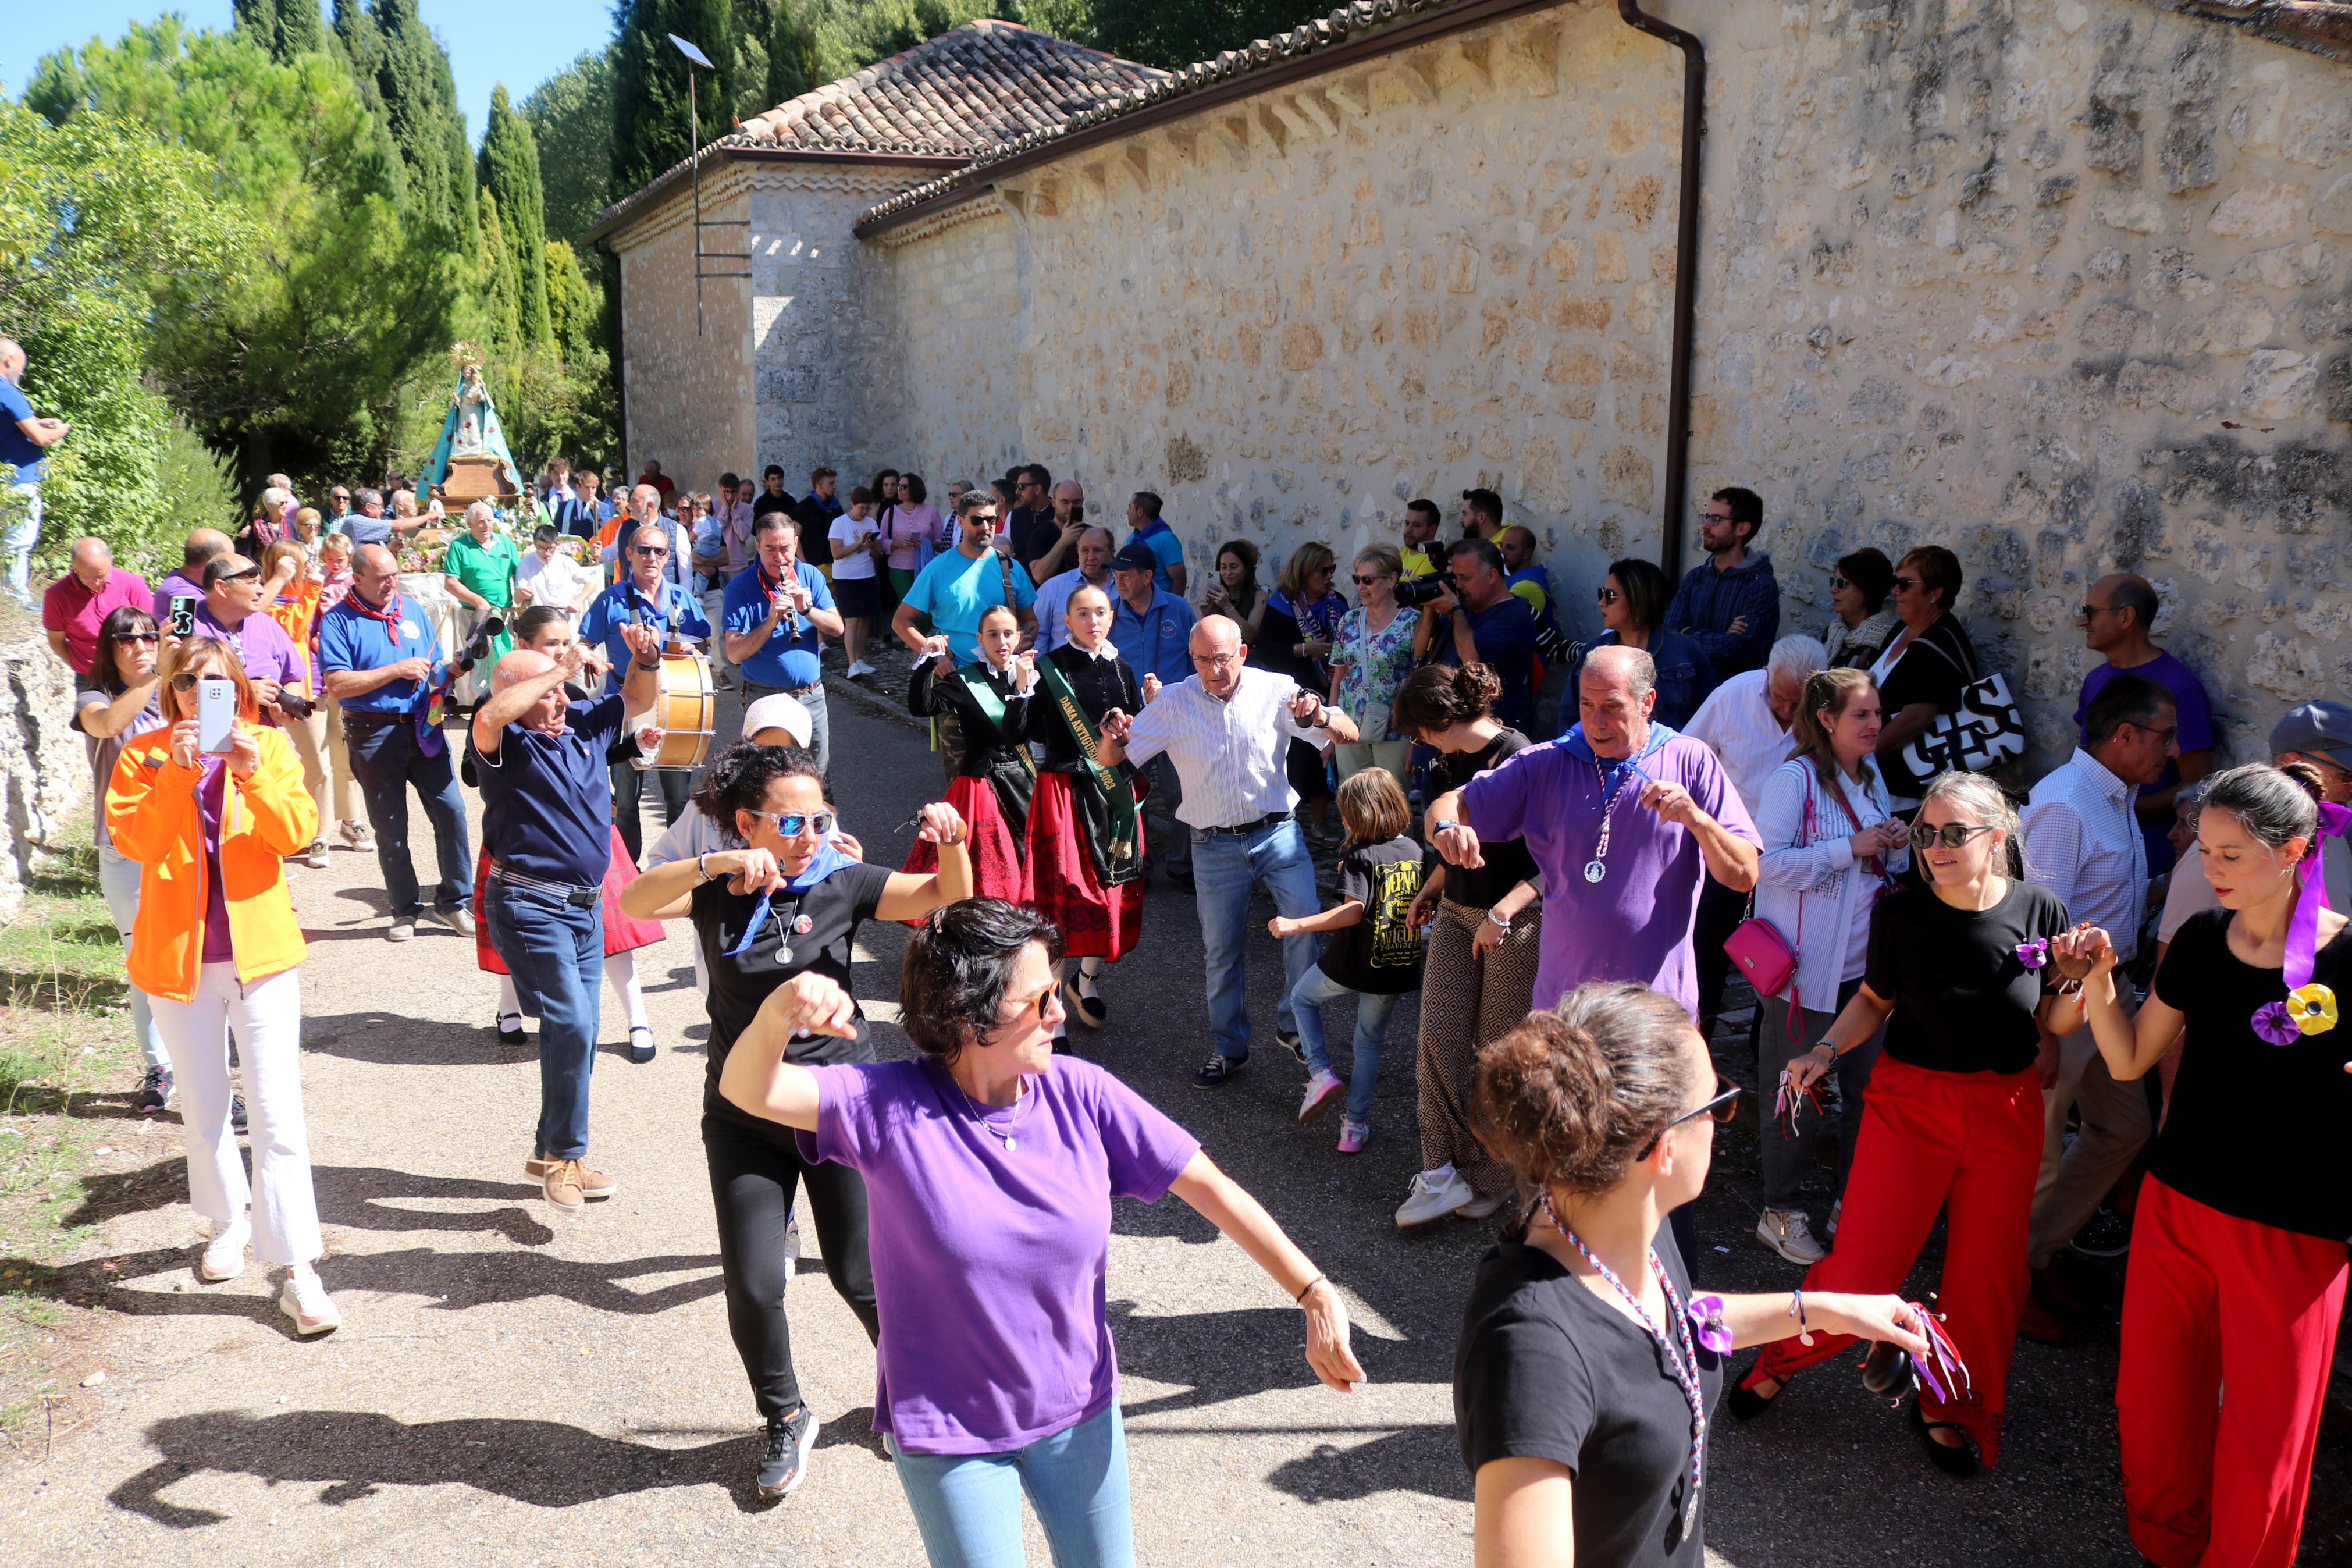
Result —
M 2150 1561 L 2296 1561 L 2343 1309 L 2343 1241 L 2140 1182 L 2114 1420 L 2131 1544 Z

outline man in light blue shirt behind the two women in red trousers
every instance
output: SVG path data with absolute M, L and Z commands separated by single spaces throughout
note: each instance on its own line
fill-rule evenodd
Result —
M 2180 752 L 2173 693 L 2143 675 L 2117 675 L 2084 712 L 2084 745 L 2034 785 L 2020 813 L 2025 875 L 2065 900 L 2067 917 L 2110 933 L 2124 969 L 2147 917 L 2147 842 L 2133 799 Z M 2082 1302 L 2051 1276 L 2051 1258 L 2084 1227 L 2154 1131 L 2145 1084 L 2117 1084 L 2089 1025 L 2042 1046 L 2042 1175 L 2034 1182 L 2025 1262 L 2034 1291 L 2018 1319 L 2030 1340 L 2063 1342 L 2053 1312 Z M 2065 1143 L 2067 1107 L 2082 1131 Z

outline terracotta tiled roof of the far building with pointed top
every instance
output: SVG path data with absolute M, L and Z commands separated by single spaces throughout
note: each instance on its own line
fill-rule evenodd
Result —
M 1167 71 L 981 19 L 753 115 L 720 146 L 974 155 L 1160 80 Z

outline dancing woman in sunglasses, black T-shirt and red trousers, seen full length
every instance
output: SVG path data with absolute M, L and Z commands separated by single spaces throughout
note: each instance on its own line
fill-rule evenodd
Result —
M 1884 1025 L 1884 1056 L 1863 1093 L 1846 1208 L 1806 1291 L 1886 1291 L 1903 1284 L 1945 1213 L 1938 1307 L 1969 1368 L 1962 1387 L 1919 1394 L 1912 1420 L 1929 1458 L 1952 1476 L 1976 1455 L 2002 1458 L 2009 1354 L 2025 1300 L 2025 1229 L 2042 1168 L 2042 1032 L 2082 1027 L 2091 961 L 2051 950 L 2065 905 L 2004 875 L 2018 813 L 1999 785 L 1940 773 L 1912 823 L 1926 886 L 1903 886 L 1870 919 L 1863 985 L 1818 1046 L 1788 1063 L 1785 1093 L 1806 1095 L 1839 1056 Z M 1806 1366 L 1846 1335 L 1773 1345 L 1731 1392 L 1731 1413 L 1762 1415 Z

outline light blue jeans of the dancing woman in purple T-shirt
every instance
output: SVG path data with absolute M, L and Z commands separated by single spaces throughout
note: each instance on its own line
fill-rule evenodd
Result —
M 1117 1403 L 1009 1453 L 894 1450 L 931 1568 L 1023 1568 L 1021 1493 L 1037 1509 L 1054 1568 L 1134 1568 Z

